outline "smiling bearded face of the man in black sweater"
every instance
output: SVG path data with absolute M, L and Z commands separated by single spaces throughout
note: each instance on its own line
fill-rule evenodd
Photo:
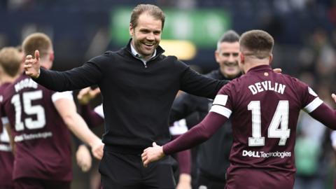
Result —
M 130 24 L 132 45 L 144 59 L 149 59 L 161 41 L 162 22 L 148 13 L 142 13 L 137 26 Z

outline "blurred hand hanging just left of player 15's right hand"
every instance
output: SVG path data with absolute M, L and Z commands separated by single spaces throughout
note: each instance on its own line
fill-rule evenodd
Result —
M 78 167 L 82 169 L 82 172 L 87 172 L 90 170 L 92 165 L 92 158 L 89 149 L 85 145 L 78 146 L 76 151 L 76 161 Z

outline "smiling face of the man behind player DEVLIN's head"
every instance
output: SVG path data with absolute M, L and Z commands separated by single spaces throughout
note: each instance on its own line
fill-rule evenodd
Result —
M 216 62 L 226 78 L 235 78 L 239 73 L 239 42 L 222 42 L 215 52 Z

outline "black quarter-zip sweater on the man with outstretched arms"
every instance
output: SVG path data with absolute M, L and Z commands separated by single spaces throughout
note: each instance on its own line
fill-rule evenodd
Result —
M 227 81 L 202 76 L 176 57 L 162 55 L 160 46 L 145 66 L 132 55 L 130 42 L 69 71 L 41 69 L 34 80 L 55 91 L 99 85 L 105 146 L 120 153 L 141 153 L 153 141 L 162 145 L 170 140 L 169 111 L 178 90 L 214 99 Z

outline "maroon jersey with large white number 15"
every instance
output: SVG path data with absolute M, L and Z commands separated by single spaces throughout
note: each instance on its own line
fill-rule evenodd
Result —
M 3 106 L 16 146 L 13 179 L 71 181 L 70 133 L 53 104 L 59 94 L 25 75 L 6 88 Z

